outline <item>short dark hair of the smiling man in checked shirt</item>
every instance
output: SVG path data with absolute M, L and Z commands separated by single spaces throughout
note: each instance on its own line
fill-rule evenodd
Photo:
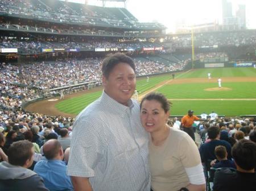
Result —
M 129 64 L 131 68 L 135 71 L 135 64 L 131 57 L 126 56 L 123 53 L 115 53 L 114 55 L 108 55 L 102 63 L 102 76 L 106 78 L 109 77 L 110 72 L 114 69 L 114 67 L 119 63 Z

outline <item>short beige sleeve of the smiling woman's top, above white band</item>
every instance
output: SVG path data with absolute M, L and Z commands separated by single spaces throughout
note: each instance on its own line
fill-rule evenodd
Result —
M 199 150 L 189 135 L 183 136 L 179 146 L 181 163 L 184 168 L 195 167 L 201 163 Z

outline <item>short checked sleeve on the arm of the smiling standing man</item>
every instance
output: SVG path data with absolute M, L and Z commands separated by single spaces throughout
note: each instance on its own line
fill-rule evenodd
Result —
M 102 160 L 103 144 L 97 124 L 78 118 L 74 124 L 67 174 L 77 177 L 93 177 L 96 165 Z

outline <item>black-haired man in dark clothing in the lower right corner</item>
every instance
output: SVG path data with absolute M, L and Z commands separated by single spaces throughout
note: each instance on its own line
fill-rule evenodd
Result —
M 256 144 L 250 140 L 240 140 L 232 148 L 232 157 L 237 171 L 229 168 L 217 170 L 213 190 L 256 190 Z

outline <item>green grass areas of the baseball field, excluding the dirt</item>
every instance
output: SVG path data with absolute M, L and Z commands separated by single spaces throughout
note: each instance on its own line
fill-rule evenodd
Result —
M 209 68 L 196 69 L 191 72 L 176 74 L 176 78 L 206 78 L 207 73 L 212 77 L 256 77 L 254 68 Z M 150 76 L 150 82 L 145 78 L 137 78 L 139 95 L 155 89 L 162 82 L 171 80 L 171 74 Z M 229 91 L 206 91 L 207 88 L 217 88 L 216 83 L 167 84 L 158 89 L 168 99 L 249 99 L 256 98 L 256 82 L 222 82 L 222 86 Z M 101 91 L 86 93 L 83 96 L 59 102 L 56 108 L 64 113 L 79 114 L 87 105 L 101 96 Z M 173 100 L 172 115 L 183 115 L 188 109 L 195 110 L 199 115 L 203 112 L 215 111 L 220 115 L 237 116 L 256 114 L 254 100 Z

